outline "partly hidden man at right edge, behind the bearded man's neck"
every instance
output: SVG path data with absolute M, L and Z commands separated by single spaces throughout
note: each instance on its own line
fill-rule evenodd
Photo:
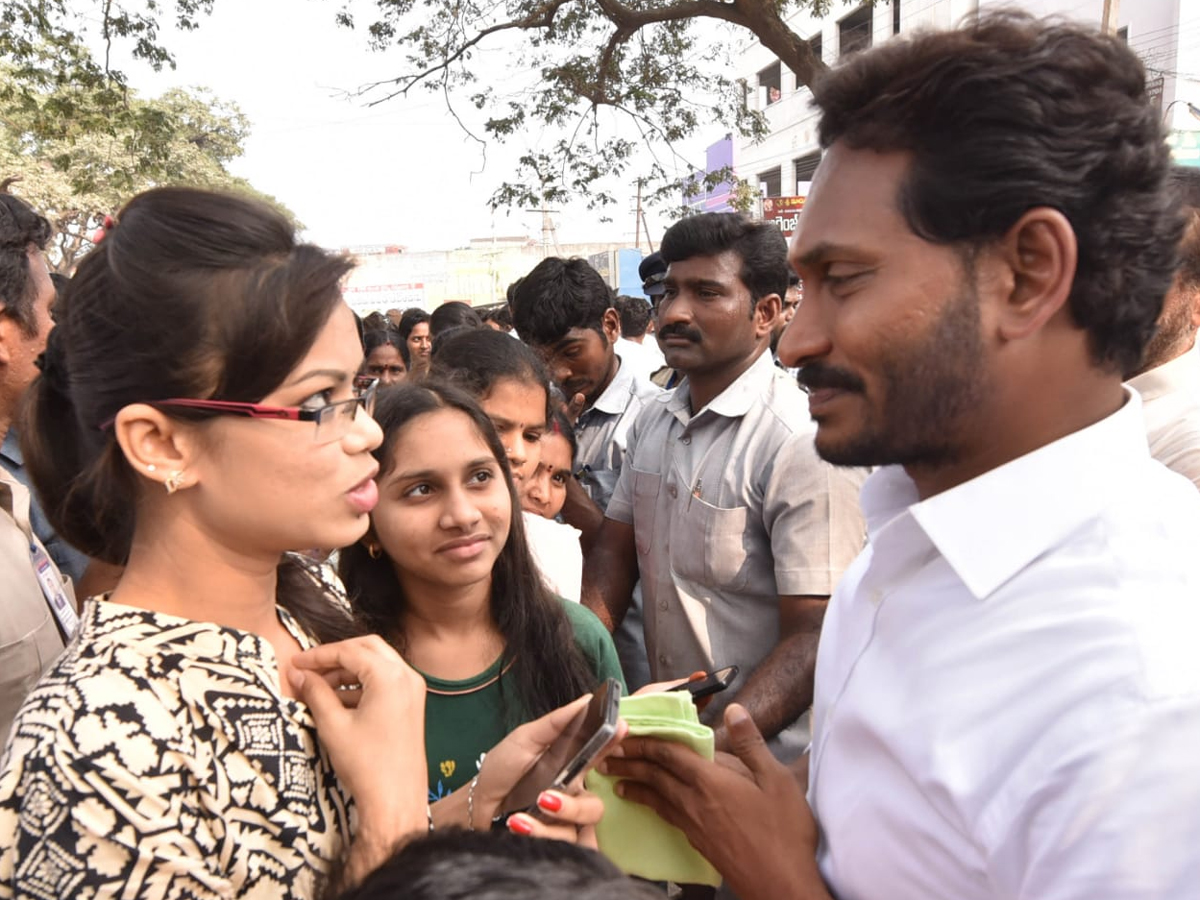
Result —
M 1171 184 L 1188 224 L 1180 269 L 1146 355 L 1129 379 L 1141 395 L 1150 454 L 1200 487 L 1200 170 L 1177 168 Z

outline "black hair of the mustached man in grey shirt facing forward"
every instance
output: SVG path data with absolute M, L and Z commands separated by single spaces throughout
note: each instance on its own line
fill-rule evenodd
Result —
M 755 222 L 739 212 L 704 212 L 680 218 L 662 235 L 659 252 L 670 266 L 692 257 L 738 254 L 738 277 L 750 292 L 750 312 L 769 294 L 787 293 L 787 241 L 769 222 Z

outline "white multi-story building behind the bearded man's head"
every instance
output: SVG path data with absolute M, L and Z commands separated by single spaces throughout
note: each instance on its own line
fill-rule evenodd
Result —
M 829 66 L 856 50 L 883 43 L 914 29 L 948 29 L 976 12 L 1012 7 L 1012 0 L 859 0 L 834 4 L 817 18 L 791 18 Z M 1040 17 L 1060 16 L 1100 25 L 1105 0 L 1021 0 L 1018 6 Z M 1109 0 L 1115 28 L 1141 56 L 1151 94 L 1171 130 L 1176 161 L 1200 166 L 1200 0 Z M 740 49 L 750 102 L 761 109 L 770 134 L 761 143 L 733 139 L 736 174 L 757 185 L 764 198 L 803 196 L 821 160 L 817 114 L 808 88 L 755 38 Z M 767 204 L 767 206 L 780 204 Z M 766 212 L 767 210 L 764 210 Z

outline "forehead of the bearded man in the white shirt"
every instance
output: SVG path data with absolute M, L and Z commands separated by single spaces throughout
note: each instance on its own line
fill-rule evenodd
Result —
M 828 247 L 887 250 L 917 239 L 896 206 L 908 155 L 834 143 L 821 160 L 797 223 L 788 262 L 800 271 Z

